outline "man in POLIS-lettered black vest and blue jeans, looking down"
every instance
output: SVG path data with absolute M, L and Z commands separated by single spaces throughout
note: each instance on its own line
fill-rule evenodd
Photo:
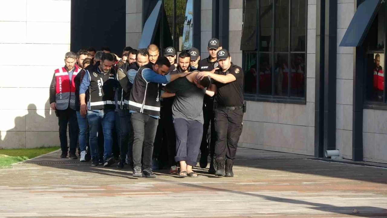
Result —
M 113 55 L 103 54 L 101 60 L 92 69 L 86 71 L 79 87 L 80 114 L 86 116 L 90 128 L 90 149 L 92 166 L 99 165 L 98 131 L 103 129 L 104 136 L 104 166 L 115 162 L 112 157 L 112 129 L 114 125 L 114 89 L 116 86 L 116 71 L 112 68 Z M 89 90 L 89 100 L 86 104 L 85 93 Z

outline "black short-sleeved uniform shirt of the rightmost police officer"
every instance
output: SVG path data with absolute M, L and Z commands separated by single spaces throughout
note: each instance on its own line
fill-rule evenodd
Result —
M 239 66 L 231 63 L 231 67 L 223 72 L 221 69 L 215 71 L 219 75 L 233 74 L 236 78 L 231 83 L 220 83 L 216 80 L 213 83 L 216 85 L 217 91 L 215 100 L 217 104 L 223 107 L 242 106 L 243 105 L 243 71 Z

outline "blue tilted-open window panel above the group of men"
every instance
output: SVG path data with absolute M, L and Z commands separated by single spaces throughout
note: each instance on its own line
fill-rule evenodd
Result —
M 151 15 L 145 22 L 144 29 L 142 29 L 141 39 L 138 48 L 147 48 L 149 44 L 152 44 L 154 35 L 156 34 L 159 26 L 159 20 L 161 15 L 161 0 L 159 0 L 152 10 Z

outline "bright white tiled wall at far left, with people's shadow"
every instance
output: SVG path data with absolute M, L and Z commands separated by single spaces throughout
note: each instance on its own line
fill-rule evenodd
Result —
M 70 50 L 70 0 L 2 1 L 0 148 L 58 146 L 54 70 Z

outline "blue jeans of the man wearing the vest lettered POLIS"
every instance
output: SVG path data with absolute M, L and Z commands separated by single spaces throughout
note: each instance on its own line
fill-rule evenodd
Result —
M 98 158 L 98 130 L 102 124 L 104 137 L 104 159 L 111 157 L 111 147 L 113 145 L 112 129 L 114 126 L 114 111 L 87 111 L 87 121 L 90 127 L 90 149 L 91 157 Z

